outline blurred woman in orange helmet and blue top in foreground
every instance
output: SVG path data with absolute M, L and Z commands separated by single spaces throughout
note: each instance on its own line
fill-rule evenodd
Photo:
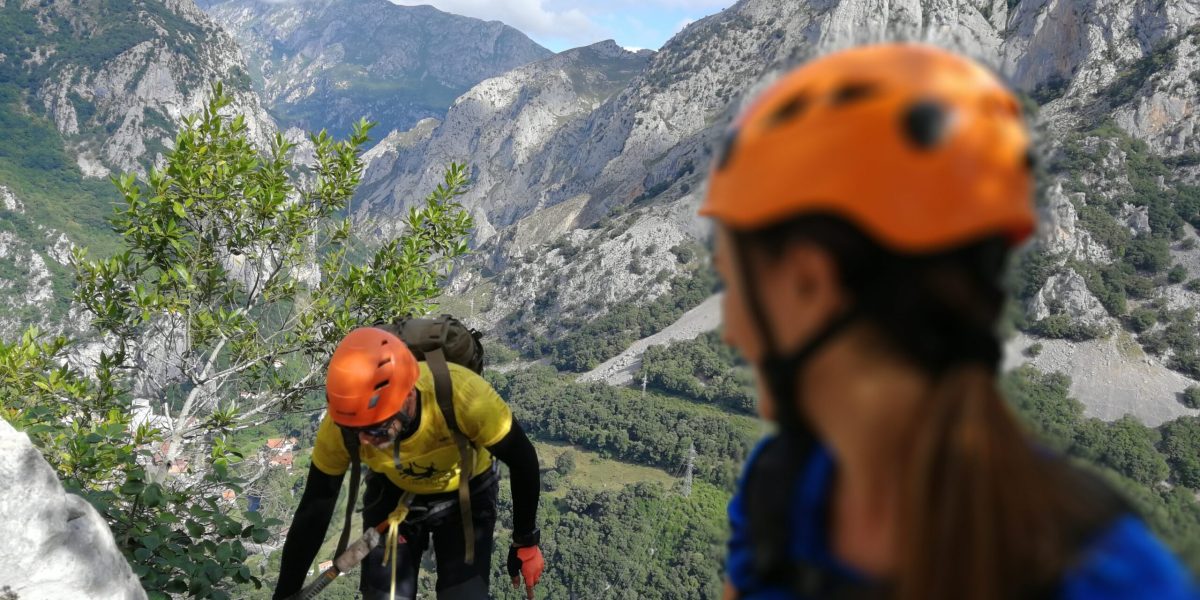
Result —
M 926 46 L 816 60 L 734 124 L 701 214 L 778 433 L 730 503 L 726 599 L 1195 598 L 997 392 L 1031 163 L 1016 98 Z

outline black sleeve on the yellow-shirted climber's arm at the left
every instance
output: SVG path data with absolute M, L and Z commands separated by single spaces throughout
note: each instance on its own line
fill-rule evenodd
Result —
M 316 464 L 308 467 L 308 480 L 304 486 L 300 505 L 292 517 L 288 539 L 283 542 L 280 559 L 280 581 L 275 584 L 275 599 L 288 598 L 304 587 L 312 559 L 317 557 L 325 530 L 334 516 L 337 492 L 344 475 L 326 475 Z

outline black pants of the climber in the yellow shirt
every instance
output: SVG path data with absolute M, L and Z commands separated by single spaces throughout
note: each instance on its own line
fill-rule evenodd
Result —
M 433 539 L 437 558 L 438 600 L 488 598 L 498 484 L 499 478 L 492 472 L 476 475 L 470 481 L 470 510 L 475 526 L 475 563 L 472 565 L 466 564 L 458 492 L 418 496 L 413 500 L 408 518 L 400 526 L 400 534 L 406 541 L 397 548 L 397 600 L 416 598 L 416 574 L 421 568 L 421 554 L 430 546 L 430 538 Z M 364 530 L 388 518 L 402 493 L 386 476 L 371 474 L 362 494 Z M 362 560 L 362 580 L 359 584 L 362 600 L 388 598 L 391 589 L 391 564 L 384 564 L 383 556 L 384 544 L 380 542 Z

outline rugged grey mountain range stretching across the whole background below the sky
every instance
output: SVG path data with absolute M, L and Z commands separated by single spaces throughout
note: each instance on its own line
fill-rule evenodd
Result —
M 1117 353 L 1145 368 L 1134 383 L 1111 382 L 1124 400 L 1097 414 L 1190 414 L 1171 397 L 1200 376 L 1195 335 L 1180 334 L 1200 306 L 1200 251 L 1189 241 L 1200 221 L 1200 10 L 1190 2 L 743 0 L 658 52 L 610 41 L 559 54 L 499 23 L 383 0 L 228 0 L 204 2 L 208 14 L 186 0 L 140 2 L 125 13 L 0 7 L 8 121 L 41 124 L 56 145 L 47 164 L 74 173 L 64 185 L 88 191 L 97 175 L 152 164 L 174 120 L 216 79 L 236 90 L 235 108 L 262 134 L 344 132 L 376 119 L 356 217 L 389 236 L 443 166 L 468 163 L 474 185 L 462 199 L 479 224 L 476 252 L 450 300 L 469 300 L 481 326 L 517 344 L 568 335 L 556 325 L 564 319 L 670 296 L 700 268 L 708 232 L 695 206 L 714 148 L 772 78 L 868 41 L 958 49 L 1022 94 L 1040 139 L 1046 214 L 1026 254 L 1034 258 L 1018 265 L 1027 281 L 1014 352 L 1038 340 L 1070 352 L 1016 362 L 1086 374 L 1094 361 L 1076 361 L 1075 349 Z M 11 166 L 0 170 L 6 206 L 25 211 L 11 220 L 24 224 L 8 226 L 5 256 L 49 264 L 60 235 L 103 245 L 97 218 L 78 216 L 102 211 L 48 209 L 58 192 L 31 184 L 40 167 L 0 158 Z M 89 193 L 72 202 L 113 200 Z M 24 289 L 10 294 L 10 313 L 25 317 L 55 281 L 28 264 L 2 271 L 10 289 Z M 28 320 L 10 319 L 8 331 Z

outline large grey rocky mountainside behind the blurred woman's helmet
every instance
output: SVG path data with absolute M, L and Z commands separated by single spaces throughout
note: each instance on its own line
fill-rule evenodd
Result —
M 427 124 L 409 148 L 437 139 L 456 152 L 422 161 L 397 144 L 395 158 L 372 164 L 362 198 L 386 218 L 438 161 L 466 160 L 482 182 L 467 203 L 497 233 L 481 234 L 479 263 L 454 290 L 485 307 L 482 325 L 518 314 L 553 336 L 545 325 L 563 316 L 667 293 L 664 277 L 680 263 L 664 246 L 704 240 L 694 208 L 716 140 L 778 73 L 862 42 L 935 43 L 1000 71 L 1038 131 L 1046 193 L 1042 230 L 1018 265 L 1027 288 L 1019 326 L 1067 347 L 1130 336 L 1154 368 L 1182 373 L 1171 384 L 1182 389 L 1200 376 L 1198 20 L 1200 7 L 1184 1 L 744 0 L 684 29 L 589 112 L 551 121 L 528 114 L 539 107 L 503 104 L 526 115 L 505 121 L 503 136 L 529 142 L 521 162 L 476 143 L 496 134 L 491 126 Z

